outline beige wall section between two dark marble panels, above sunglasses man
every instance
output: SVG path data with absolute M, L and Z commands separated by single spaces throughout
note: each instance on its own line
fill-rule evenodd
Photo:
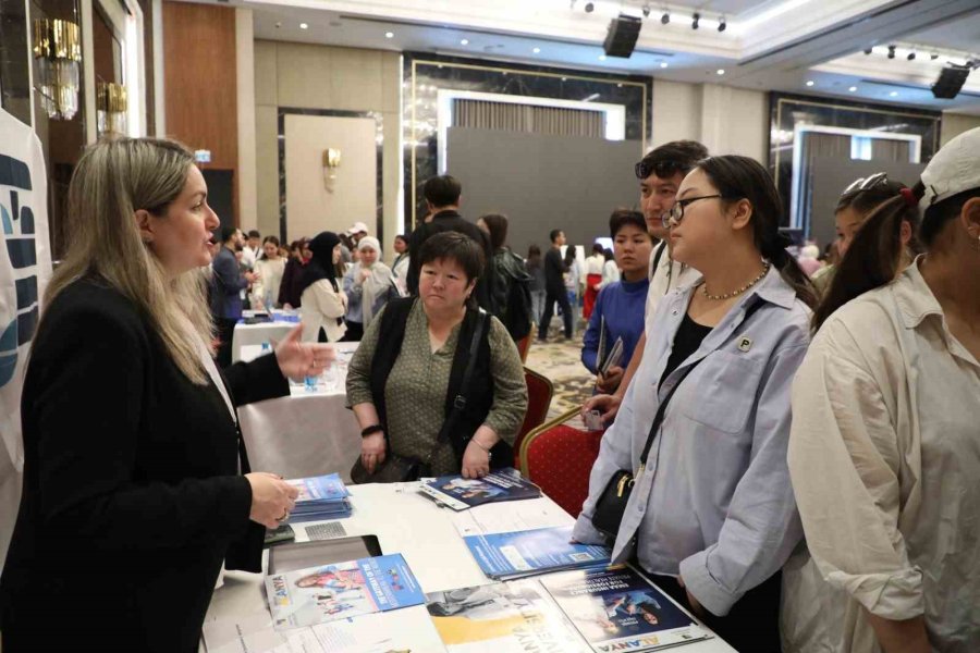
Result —
M 653 81 L 653 146 L 679 138 L 712 153 L 769 160 L 768 94 L 718 84 Z

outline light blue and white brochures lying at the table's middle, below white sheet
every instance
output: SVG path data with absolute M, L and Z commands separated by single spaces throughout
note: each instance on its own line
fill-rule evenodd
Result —
M 611 553 L 605 546 L 572 544 L 571 526 L 467 535 L 463 540 L 483 574 L 500 580 L 608 565 Z

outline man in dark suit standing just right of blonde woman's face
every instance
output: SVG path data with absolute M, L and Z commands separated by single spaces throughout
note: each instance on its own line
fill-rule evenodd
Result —
M 238 230 L 234 226 L 221 227 L 221 249 L 211 262 L 211 315 L 218 328 L 218 365 L 228 367 L 232 362 L 232 336 L 235 324 L 242 319 L 242 292 L 257 279 L 252 272 L 242 273 L 235 258 Z

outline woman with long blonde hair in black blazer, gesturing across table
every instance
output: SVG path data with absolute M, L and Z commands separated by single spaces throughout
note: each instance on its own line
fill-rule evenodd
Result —
M 286 377 L 334 354 L 295 330 L 219 372 L 207 194 L 194 155 L 169 140 L 102 139 L 74 169 L 72 237 L 24 384 L 3 651 L 196 652 L 222 563 L 261 571 L 265 529 L 294 506 L 294 488 L 249 470 L 235 407 L 289 395 Z M 70 606 L 57 626 L 52 602 Z

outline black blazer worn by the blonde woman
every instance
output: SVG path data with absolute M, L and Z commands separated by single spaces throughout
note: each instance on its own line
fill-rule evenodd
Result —
M 235 364 L 225 385 L 235 405 L 289 392 L 274 355 Z M 47 308 L 21 410 L 3 651 L 197 651 L 222 560 L 258 570 L 264 533 L 218 389 L 191 383 L 131 301 L 85 279 Z

